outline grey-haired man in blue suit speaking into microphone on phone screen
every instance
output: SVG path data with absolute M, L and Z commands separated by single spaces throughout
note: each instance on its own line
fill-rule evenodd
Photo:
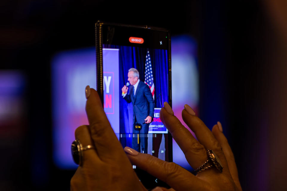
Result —
M 128 87 L 123 86 L 123 99 L 127 103 L 132 103 L 133 105 L 133 124 L 140 123 L 142 124 L 142 129 L 140 131 L 140 142 L 138 143 L 138 137 L 135 136 L 132 138 L 132 148 L 142 153 L 147 153 L 147 133 L 149 132 L 149 123 L 152 122 L 154 116 L 155 103 L 152 98 L 152 93 L 149 89 L 149 86 L 139 80 L 138 70 L 135 68 L 129 69 L 128 81 L 131 85 L 131 88 L 128 92 Z M 138 134 L 134 128 L 132 132 Z M 141 150 L 140 150 L 141 145 Z

